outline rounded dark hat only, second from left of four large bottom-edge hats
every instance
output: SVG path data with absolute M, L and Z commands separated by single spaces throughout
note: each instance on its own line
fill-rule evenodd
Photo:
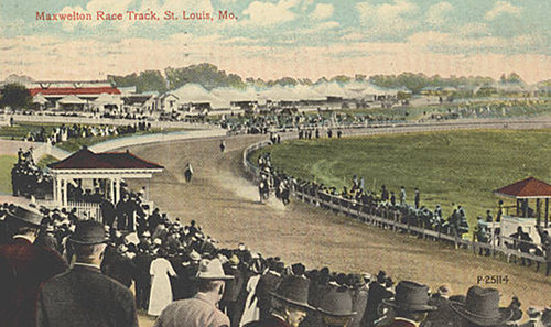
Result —
M 320 294 L 317 310 L 335 317 L 350 317 L 356 315 L 353 310 L 352 294 L 346 287 L 329 286 Z

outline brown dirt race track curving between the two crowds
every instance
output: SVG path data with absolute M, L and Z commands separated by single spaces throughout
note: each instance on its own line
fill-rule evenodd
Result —
M 195 219 L 223 247 L 245 242 L 264 257 L 280 255 L 285 263 L 303 262 L 309 269 L 329 266 L 339 272 L 385 270 L 395 281 L 414 280 L 435 290 L 450 283 L 454 294 L 466 294 L 478 276 L 507 276 L 507 284 L 489 285 L 503 293 L 503 305 L 518 295 L 522 307 L 550 305 L 551 277 L 540 268 L 527 269 L 499 260 L 475 257 L 472 251 L 418 240 L 363 225 L 292 199 L 288 207 L 279 200 L 259 204 L 257 187 L 242 176 L 244 149 L 263 137 L 188 140 L 131 148 L 131 151 L 165 166 L 151 182 L 150 198 L 171 218 Z M 186 184 L 183 168 L 191 162 L 195 174 Z M 134 189 L 142 184 L 130 183 Z M 152 320 L 140 317 L 141 326 Z

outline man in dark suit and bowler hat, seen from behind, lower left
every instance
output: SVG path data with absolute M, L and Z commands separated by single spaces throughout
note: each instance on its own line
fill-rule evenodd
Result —
M 36 304 L 37 327 L 137 327 L 134 298 L 122 284 L 101 274 L 107 238 L 97 221 L 79 221 L 69 241 L 76 262 L 69 271 L 42 285 Z

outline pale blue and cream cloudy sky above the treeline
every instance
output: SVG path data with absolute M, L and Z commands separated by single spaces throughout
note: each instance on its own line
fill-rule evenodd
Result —
M 98 20 L 98 11 L 122 20 Z M 516 72 L 537 83 L 551 79 L 549 12 L 541 0 L 0 0 L 0 79 L 105 79 L 206 62 L 244 78 Z

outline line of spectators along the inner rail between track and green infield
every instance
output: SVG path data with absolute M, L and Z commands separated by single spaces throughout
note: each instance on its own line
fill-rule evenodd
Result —
M 520 226 L 511 235 L 501 235 L 499 224 L 503 216 L 503 201 L 499 201 L 495 218 L 490 210 L 487 210 L 486 217 L 477 217 L 477 222 L 471 230 L 465 209 L 461 205 L 454 207 L 449 217 L 444 217 L 440 205 L 436 205 L 434 209 L 421 205 L 421 196 L 417 187 L 414 188 L 413 203 L 408 203 L 404 186 L 401 186 L 396 193 L 389 190 L 386 185 L 381 185 L 380 189 L 369 189 L 363 177 L 358 178 L 357 175 L 354 175 L 352 185 L 344 186 L 342 190 L 338 190 L 334 186 L 294 178 L 278 171 L 271 164 L 269 152 L 260 155 L 257 164 L 260 172 L 259 193 L 261 199 L 268 198 L 270 193 L 276 193 L 277 197 L 281 199 L 278 186 L 284 185 L 288 189 L 287 194 L 298 192 L 309 195 L 314 199 L 316 206 L 327 210 L 335 210 L 334 206 L 337 205 L 341 208 L 349 209 L 350 215 L 364 221 L 367 219 L 359 212 L 381 217 L 383 218 L 382 222 L 376 224 L 380 228 L 390 228 L 392 222 L 399 222 L 407 226 L 407 228 L 399 228 L 402 232 L 411 232 L 411 227 L 425 232 L 433 231 L 441 240 L 453 240 L 456 248 L 461 246 L 461 240 L 472 239 L 478 247 L 478 254 L 486 257 L 489 257 L 491 249 L 496 247 L 507 248 L 511 250 L 506 255 L 508 261 L 516 263 L 517 257 L 519 257 L 518 261 L 528 266 L 533 264 L 533 260 L 530 258 L 539 258 L 536 260 L 536 270 L 540 269 L 541 262 L 545 262 L 545 275 L 551 273 L 551 237 L 549 232 L 543 230 L 540 225 L 537 226 L 540 242 L 533 240 Z M 285 201 L 289 203 L 289 198 Z M 436 237 L 428 237 L 425 232 L 413 231 L 412 233 L 417 233 L 420 238 L 437 239 Z M 442 236 L 451 238 L 442 238 Z

